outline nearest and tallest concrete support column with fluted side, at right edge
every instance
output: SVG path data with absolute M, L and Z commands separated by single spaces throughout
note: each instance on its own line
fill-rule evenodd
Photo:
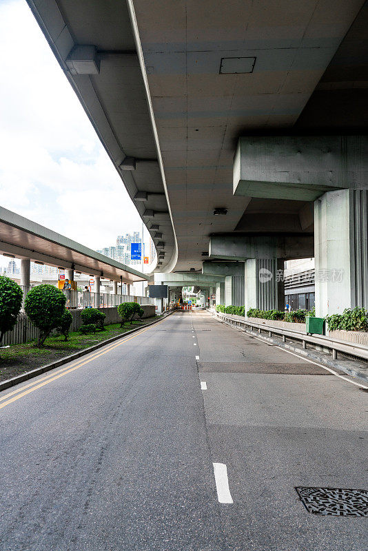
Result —
M 328 191 L 314 202 L 316 315 L 368 307 L 368 190 Z

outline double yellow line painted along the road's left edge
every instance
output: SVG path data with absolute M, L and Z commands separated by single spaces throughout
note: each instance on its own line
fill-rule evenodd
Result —
M 161 322 L 158 322 L 154 325 L 155 326 L 160 325 L 164 321 L 165 320 L 161 320 Z M 19 398 L 26 396 L 27 394 L 30 394 L 33 391 L 37 391 L 38 388 L 45 386 L 45 384 L 49 384 L 52 381 L 56 381 L 60 377 L 63 377 L 64 375 L 68 375 L 68 373 L 71 373 L 72 371 L 79 369 L 81 366 L 85 366 L 85 364 L 89 364 L 93 360 L 96 360 L 96 358 L 101 357 L 104 354 L 107 354 L 108 352 L 118 348 L 118 346 L 125 344 L 125 342 L 127 342 L 128 340 L 132 340 L 135 337 L 142 335 L 142 333 L 145 333 L 145 331 L 148 331 L 149 329 L 152 329 L 152 326 L 147 327 L 142 331 L 138 331 L 137 333 L 134 333 L 134 335 L 132 335 L 131 337 L 128 337 L 127 339 L 123 339 L 119 341 L 117 344 L 112 344 L 111 346 L 108 346 L 108 348 L 104 349 L 103 352 L 96 352 L 92 354 L 92 356 L 88 357 L 88 360 L 78 360 L 78 362 L 76 362 L 75 364 L 72 364 L 71 366 L 64 367 L 63 369 L 59 369 L 56 375 L 55 373 L 51 373 L 50 375 L 46 375 L 46 377 L 42 377 L 41 379 L 38 379 L 33 383 L 26 384 L 25 386 L 22 386 L 21 388 L 18 388 L 17 390 L 10 392 L 3 397 L 0 397 L 0 409 L 5 408 L 5 406 L 8 406 L 8 404 L 12 404 L 12 402 L 15 402 Z M 25 388 L 27 388 L 28 390 L 25 390 Z M 12 396 L 12 398 L 10 398 L 10 396 Z

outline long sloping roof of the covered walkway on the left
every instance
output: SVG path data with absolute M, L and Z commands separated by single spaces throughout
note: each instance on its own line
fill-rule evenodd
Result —
M 80 271 L 94 275 L 95 278 L 105 277 L 127 284 L 150 280 L 150 276 L 144 273 L 3 207 L 0 207 L 0 253 L 20 258 L 22 264 L 32 260 L 39 264 L 61 267 L 67 271 L 67 275 L 71 272 L 70 279 L 74 279 L 73 271 Z M 27 272 L 27 269 L 24 271 Z M 21 273 L 21 276 L 26 279 L 26 273 Z M 21 283 L 29 285 L 24 280 Z

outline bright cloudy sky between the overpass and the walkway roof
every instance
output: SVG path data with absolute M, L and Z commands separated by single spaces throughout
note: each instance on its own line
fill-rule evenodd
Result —
M 0 0 L 0 205 L 92 249 L 141 229 L 25 0 Z

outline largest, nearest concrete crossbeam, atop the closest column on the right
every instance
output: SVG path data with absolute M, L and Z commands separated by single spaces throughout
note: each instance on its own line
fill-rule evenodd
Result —
M 368 136 L 246 136 L 234 158 L 234 195 L 316 200 L 368 181 Z

